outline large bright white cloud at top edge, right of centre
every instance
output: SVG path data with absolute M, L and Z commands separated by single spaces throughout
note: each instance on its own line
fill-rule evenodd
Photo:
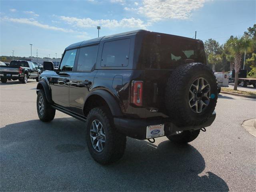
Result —
M 135 10 L 156 22 L 164 19 L 189 19 L 192 11 L 204 6 L 206 0 L 144 0 L 138 8 L 124 8 Z M 137 5 L 137 4 L 136 4 Z

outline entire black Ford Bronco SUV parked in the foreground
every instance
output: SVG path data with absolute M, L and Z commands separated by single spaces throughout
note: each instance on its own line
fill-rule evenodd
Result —
M 120 159 L 126 136 L 194 140 L 216 117 L 217 83 L 201 40 L 136 30 L 68 46 L 58 69 L 44 62 L 40 120 L 55 110 L 85 122 L 97 162 Z

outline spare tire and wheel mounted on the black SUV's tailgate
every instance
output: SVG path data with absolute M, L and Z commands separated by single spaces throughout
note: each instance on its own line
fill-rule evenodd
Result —
M 217 98 L 216 78 L 205 64 L 181 65 L 168 79 L 166 108 L 176 126 L 201 125 L 206 122 L 214 112 Z

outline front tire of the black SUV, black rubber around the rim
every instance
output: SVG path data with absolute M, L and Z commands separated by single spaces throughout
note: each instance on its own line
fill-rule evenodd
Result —
M 40 97 L 42 97 L 42 99 L 44 101 L 44 113 L 43 114 L 40 114 L 39 106 L 38 106 Z M 52 108 L 50 103 L 47 101 L 44 90 L 42 90 L 42 89 L 37 94 L 36 109 L 37 109 L 38 117 L 41 121 L 49 122 L 54 119 L 56 110 L 54 108 Z

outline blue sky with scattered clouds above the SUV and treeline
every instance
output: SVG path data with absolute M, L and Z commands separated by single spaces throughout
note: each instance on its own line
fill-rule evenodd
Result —
M 60 57 L 75 42 L 146 29 L 224 43 L 256 23 L 255 0 L 0 0 L 0 55 Z

